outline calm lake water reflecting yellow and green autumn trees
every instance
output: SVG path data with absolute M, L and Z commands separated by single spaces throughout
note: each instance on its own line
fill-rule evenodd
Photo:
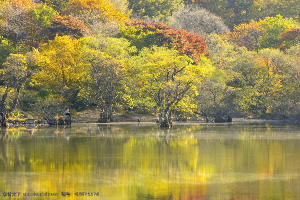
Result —
M 300 199 L 300 127 L 178 123 L 1 129 L 11 199 Z M 61 197 L 61 192 L 73 196 Z M 78 197 L 76 192 L 99 192 Z

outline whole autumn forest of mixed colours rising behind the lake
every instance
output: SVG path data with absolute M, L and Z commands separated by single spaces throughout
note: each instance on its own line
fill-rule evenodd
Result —
M 299 0 L 1 0 L 0 126 L 70 108 L 300 122 Z

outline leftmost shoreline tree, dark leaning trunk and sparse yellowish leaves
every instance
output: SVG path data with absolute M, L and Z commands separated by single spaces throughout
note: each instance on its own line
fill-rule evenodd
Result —
M 0 100 L 0 126 L 7 126 L 7 119 L 11 116 L 19 102 L 21 88 L 24 83 L 38 70 L 39 53 L 32 52 L 22 54 L 10 54 L 1 69 L 1 79 L 4 85 L 4 93 Z M 10 93 L 13 92 L 13 95 Z

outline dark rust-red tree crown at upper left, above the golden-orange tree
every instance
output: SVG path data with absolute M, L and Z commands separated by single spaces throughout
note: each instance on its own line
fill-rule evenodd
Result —
M 53 40 L 55 35 L 58 34 L 68 35 L 71 38 L 80 38 L 88 31 L 88 27 L 79 22 L 72 16 L 55 16 L 52 19 L 52 26 L 48 27 L 48 39 Z

